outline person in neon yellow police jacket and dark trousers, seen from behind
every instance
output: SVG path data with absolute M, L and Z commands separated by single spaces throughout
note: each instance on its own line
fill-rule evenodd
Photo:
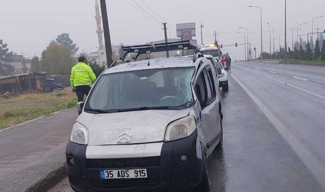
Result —
M 86 64 L 86 58 L 81 56 L 78 63 L 72 67 L 70 83 L 72 92 L 78 96 L 78 102 L 84 101 L 84 96 L 88 96 L 91 89 L 90 85 L 95 83 L 96 75 L 89 65 Z

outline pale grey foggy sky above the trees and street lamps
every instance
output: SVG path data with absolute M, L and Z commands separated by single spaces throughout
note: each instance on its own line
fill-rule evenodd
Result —
M 214 30 L 219 44 L 244 43 L 239 29 L 249 29 L 249 38 L 260 53 L 260 9 L 263 7 L 263 42 L 269 42 L 269 26 L 275 30 L 275 49 L 279 48 L 279 35 L 284 33 L 284 0 L 135 0 L 146 9 L 148 16 L 133 0 L 107 0 L 112 44 L 147 43 L 164 38 L 162 22 L 167 22 L 168 37 L 176 38 L 176 23 L 196 22 L 198 44 L 201 43 L 200 23 L 204 25 L 203 43 L 212 44 Z M 128 3 L 129 2 L 129 3 Z M 43 49 L 61 33 L 69 33 L 82 50 L 95 51 L 98 46 L 95 20 L 95 0 L 0 0 L 0 39 L 9 51 L 26 57 L 40 56 Z M 325 15 L 324 0 L 287 0 L 287 42 L 292 45 L 292 28 L 300 26 L 302 38 L 312 30 L 312 18 Z M 155 18 L 155 19 L 152 19 Z M 314 28 L 325 29 L 325 17 L 314 20 Z M 314 30 L 316 32 L 316 30 Z M 297 39 L 296 31 L 293 33 Z M 314 38 L 316 39 L 316 35 Z M 272 34 L 273 38 L 273 34 Z M 273 40 L 272 40 L 273 43 Z M 284 35 L 281 36 L 284 45 Z M 232 58 L 244 58 L 244 48 L 228 47 Z M 264 45 L 269 52 L 269 44 Z M 273 52 L 273 44 L 272 44 Z

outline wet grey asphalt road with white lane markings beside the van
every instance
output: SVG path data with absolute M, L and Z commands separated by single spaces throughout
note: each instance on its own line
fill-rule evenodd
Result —
M 228 73 L 210 191 L 325 192 L 325 70 L 240 62 Z M 72 192 L 67 182 L 50 192 Z

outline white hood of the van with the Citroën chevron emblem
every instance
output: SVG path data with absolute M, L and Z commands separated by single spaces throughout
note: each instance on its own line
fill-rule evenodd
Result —
M 164 140 L 167 125 L 187 116 L 190 109 L 108 114 L 83 112 L 77 121 L 88 129 L 88 145 L 160 142 Z

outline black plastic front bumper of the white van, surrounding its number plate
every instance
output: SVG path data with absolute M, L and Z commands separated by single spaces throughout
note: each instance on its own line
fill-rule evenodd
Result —
M 87 146 L 69 141 L 66 158 L 70 185 L 77 192 L 176 191 L 198 186 L 202 151 L 197 142 L 195 131 L 187 138 L 163 143 L 158 157 L 86 159 Z M 187 160 L 182 161 L 182 155 Z M 147 169 L 148 178 L 100 179 L 100 170 L 114 169 Z

